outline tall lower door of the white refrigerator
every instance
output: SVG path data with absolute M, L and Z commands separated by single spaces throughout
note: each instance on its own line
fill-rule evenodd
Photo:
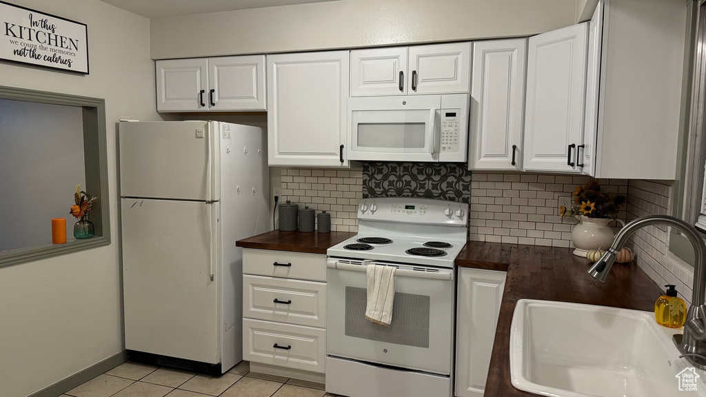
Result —
M 126 349 L 220 362 L 218 210 L 121 199 Z

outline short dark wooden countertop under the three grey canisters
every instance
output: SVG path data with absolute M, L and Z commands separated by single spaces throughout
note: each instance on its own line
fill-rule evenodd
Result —
M 235 242 L 236 247 L 255 249 L 275 249 L 278 251 L 308 252 L 309 254 L 326 254 L 326 250 L 334 245 L 353 237 L 355 233 L 301 233 L 280 232 L 273 230 L 261 235 L 248 237 Z

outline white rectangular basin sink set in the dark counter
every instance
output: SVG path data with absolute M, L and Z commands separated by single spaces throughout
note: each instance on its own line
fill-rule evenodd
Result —
M 676 375 L 692 365 L 678 358 L 674 333 L 681 330 L 659 326 L 652 312 L 520 300 L 510 377 L 515 388 L 542 396 L 706 396 L 699 369 L 697 390 L 679 391 Z

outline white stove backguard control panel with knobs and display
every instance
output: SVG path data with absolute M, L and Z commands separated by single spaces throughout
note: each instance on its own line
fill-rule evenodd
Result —
M 465 226 L 468 204 L 436 198 L 364 198 L 358 204 L 359 220 Z

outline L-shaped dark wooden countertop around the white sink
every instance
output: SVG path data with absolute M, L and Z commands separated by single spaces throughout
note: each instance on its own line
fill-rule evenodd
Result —
M 590 262 L 572 249 L 468 242 L 460 267 L 508 271 L 484 397 L 537 396 L 510 383 L 510 324 L 521 299 L 554 300 L 626 309 L 654 309 L 662 291 L 635 263 L 616 263 L 605 283 L 592 278 Z

